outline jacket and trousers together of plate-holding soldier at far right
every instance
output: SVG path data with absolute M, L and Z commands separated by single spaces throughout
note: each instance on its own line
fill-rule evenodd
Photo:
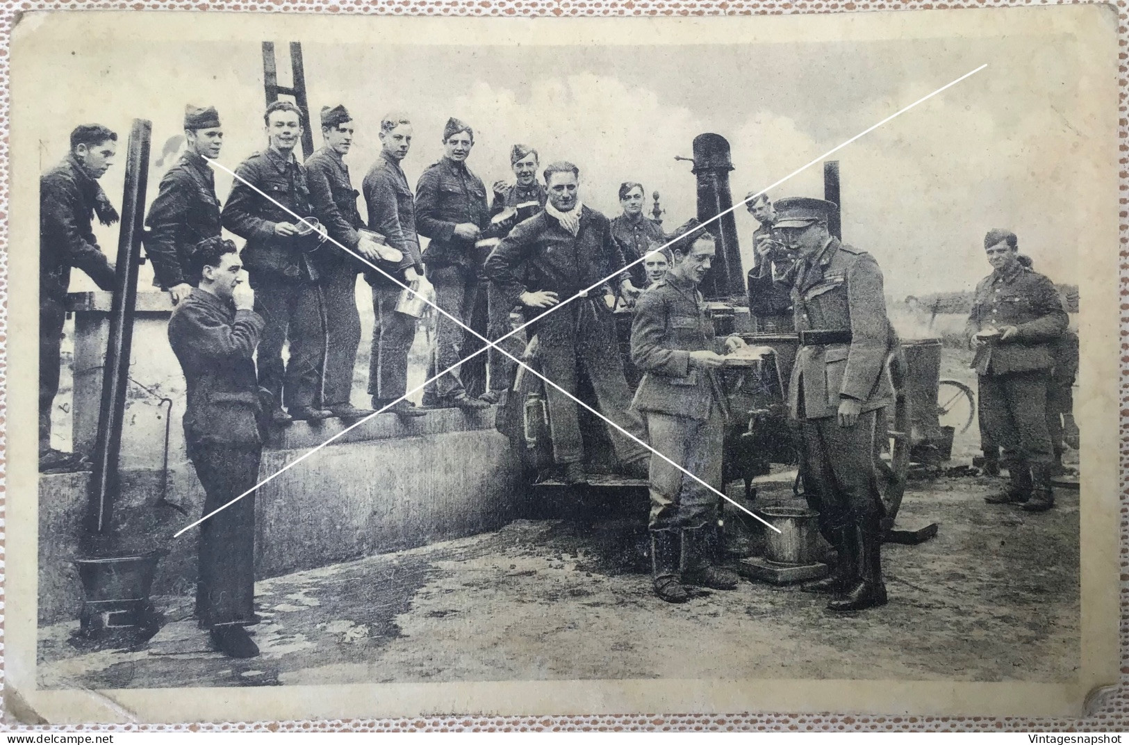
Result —
M 1054 284 L 1016 265 L 994 271 L 977 284 L 965 334 L 988 327 L 1015 326 L 1007 341 L 977 350 L 980 419 L 1005 461 L 1050 464 L 1053 447 L 1047 427 L 1047 385 L 1054 365 L 1050 344 L 1066 331 L 1069 318 Z

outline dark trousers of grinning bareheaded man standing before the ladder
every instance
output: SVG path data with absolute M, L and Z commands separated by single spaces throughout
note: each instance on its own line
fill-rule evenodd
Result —
M 259 385 L 287 409 L 312 406 L 322 398 L 325 354 L 324 308 L 314 282 L 274 275 L 251 275 L 255 313 L 266 322 L 259 341 Z M 282 362 L 289 342 L 290 359 Z

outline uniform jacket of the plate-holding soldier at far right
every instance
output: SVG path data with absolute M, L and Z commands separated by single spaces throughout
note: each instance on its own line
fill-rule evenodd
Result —
M 1053 366 L 1049 343 L 1066 331 L 1069 317 L 1054 284 L 1038 272 L 1016 266 L 1006 275 L 992 272 L 977 284 L 972 313 L 965 326 L 972 335 L 984 328 L 1015 326 L 1007 341 L 978 350 L 973 367 L 980 375 L 1043 370 Z

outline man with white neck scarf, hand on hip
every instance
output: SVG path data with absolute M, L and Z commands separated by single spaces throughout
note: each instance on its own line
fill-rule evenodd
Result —
M 502 238 L 487 260 L 487 274 L 510 305 L 540 314 L 623 269 L 623 255 L 607 218 L 580 203 L 579 169 L 570 163 L 545 168 L 549 203 Z M 624 280 L 627 281 L 627 280 Z M 623 377 L 611 304 L 593 290 L 536 323 L 544 375 L 576 393 L 577 362 L 595 389 L 599 410 L 620 427 L 646 441 L 642 421 L 630 410 L 631 393 Z M 607 297 L 614 303 L 611 290 Z M 553 458 L 566 483 L 586 481 L 584 444 L 576 402 L 545 386 Z M 615 455 L 624 473 L 645 479 L 647 449 L 611 430 Z

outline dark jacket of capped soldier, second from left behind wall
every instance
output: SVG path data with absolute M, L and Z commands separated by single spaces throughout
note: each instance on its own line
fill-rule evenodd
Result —
M 196 284 L 199 278 L 189 273 L 189 255 L 198 243 L 221 233 L 215 174 L 207 160 L 191 151 L 181 156 L 160 179 L 146 225 L 154 284 L 164 290 Z

